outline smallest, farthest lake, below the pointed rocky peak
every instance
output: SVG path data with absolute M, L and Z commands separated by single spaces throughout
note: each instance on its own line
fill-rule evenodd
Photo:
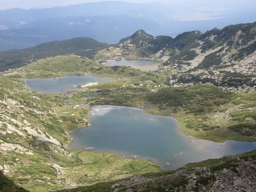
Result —
M 127 66 L 133 67 L 140 70 L 157 70 L 160 65 L 157 61 L 148 61 L 148 60 L 109 60 L 106 62 L 107 66 Z

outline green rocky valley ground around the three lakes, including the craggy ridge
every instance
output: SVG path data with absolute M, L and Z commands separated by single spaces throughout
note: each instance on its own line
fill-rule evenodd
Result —
M 196 182 L 204 183 L 205 180 L 209 180 L 205 188 L 208 184 L 211 187 L 216 174 L 222 174 L 223 169 L 233 171 L 233 176 L 237 178 L 240 175 L 235 169 L 243 170 L 239 173 L 244 175 L 244 170 L 249 170 L 248 166 L 252 165 L 250 171 L 255 171 L 255 151 L 240 155 L 240 159 L 236 156 L 223 157 L 180 168 L 191 161 L 184 162 L 170 168 L 180 168 L 176 171 L 163 172 L 155 161 L 134 156 L 124 158 L 111 153 L 115 151 L 68 149 L 72 141 L 70 133 L 90 126 L 88 115 L 92 107 L 106 105 L 136 107 L 150 115 L 175 117 L 180 130 L 191 140 L 255 142 L 254 28 L 255 23 L 250 23 L 231 26 L 221 32 L 216 29 L 205 34 L 188 32 L 176 37 L 176 40 L 153 37 L 140 30 L 117 45 L 96 46 L 89 58 L 83 51 L 67 52 L 65 46 L 60 53 L 33 58 L 20 56 L 20 51 L 8 52 L 8 57 L 17 56 L 18 64 L 11 70 L 7 69 L 8 63 L 11 63 L 9 60 L 2 59 L 1 64 L 7 67 L 7 71 L 3 70 L 0 75 L 2 173 L 25 190 L 38 192 L 70 188 L 78 188 L 71 191 L 104 191 L 104 188 L 125 191 L 131 186 L 146 191 L 153 185 L 157 191 L 160 190 L 159 185 L 165 186 L 164 180 L 170 177 L 174 179 L 169 182 L 168 190 L 181 186 L 185 191 L 196 187 L 203 189 Z M 227 29 L 228 36 L 225 36 Z M 51 43 L 44 51 L 48 46 L 51 47 Z M 76 45 L 73 47 L 76 49 Z M 84 49 L 85 46 L 82 46 L 81 50 Z M 21 59 L 22 62 L 19 62 Z M 154 60 L 163 63 L 156 71 L 101 64 L 109 60 Z M 226 74 L 230 68 L 232 72 Z M 56 93 L 29 91 L 29 85 L 26 86 L 24 81 L 45 78 L 55 81 L 70 76 L 97 78 L 93 81 L 74 80 L 70 86 L 80 85 L 79 88 L 66 88 Z M 88 82 L 97 83 L 83 84 Z M 67 86 L 65 82 L 62 84 Z M 54 91 L 56 89 L 53 88 Z M 209 145 L 209 150 L 211 147 Z M 238 153 L 251 149 L 254 149 L 253 145 L 244 147 Z M 173 155 L 180 151 L 175 151 Z M 195 161 L 226 154 L 203 155 L 204 152 Z M 192 180 L 189 178 L 189 174 L 197 175 L 198 172 L 206 179 L 199 176 Z M 142 181 L 139 182 L 136 177 L 131 181 L 117 181 L 134 175 L 142 175 L 143 179 L 138 179 Z M 251 175 L 248 175 L 248 180 L 253 182 Z M 176 177 L 178 180 L 175 180 Z M 157 178 L 159 183 L 149 185 L 149 178 Z M 253 187 L 253 184 L 249 186 Z

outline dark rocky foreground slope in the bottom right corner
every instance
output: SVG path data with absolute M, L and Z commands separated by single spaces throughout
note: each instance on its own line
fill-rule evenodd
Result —
M 236 166 L 236 168 L 235 168 Z M 161 176 L 134 176 L 112 185 L 117 191 L 255 191 L 255 161 L 239 161 L 230 169 L 214 171 L 208 167 L 180 170 Z

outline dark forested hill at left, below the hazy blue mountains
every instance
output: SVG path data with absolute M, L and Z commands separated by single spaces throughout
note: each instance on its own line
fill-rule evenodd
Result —
M 100 43 L 92 38 L 72 38 L 65 41 L 43 43 L 23 50 L 0 52 L 0 71 L 27 65 L 41 58 L 57 55 L 78 55 L 91 58 L 93 53 L 105 48 L 105 43 Z

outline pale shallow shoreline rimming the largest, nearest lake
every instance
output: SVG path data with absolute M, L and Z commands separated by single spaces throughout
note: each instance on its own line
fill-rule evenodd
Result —
M 136 108 L 136 107 L 124 107 L 124 106 L 112 106 L 112 105 L 101 105 L 101 106 L 91 106 L 90 107 L 90 113 L 88 115 L 88 122 L 90 122 L 91 125 L 89 126 L 86 126 L 86 127 L 81 127 L 80 129 L 76 129 L 74 131 L 72 131 L 70 133 L 70 137 L 72 137 L 72 134 L 77 132 L 77 131 L 83 131 L 85 129 L 93 129 L 93 122 L 91 122 L 91 118 L 92 118 L 92 115 L 95 115 L 95 114 L 91 114 L 93 111 L 92 110 L 95 110 L 96 107 L 117 107 L 118 108 L 126 108 L 126 109 L 131 109 L 131 110 L 138 110 L 138 111 L 141 111 L 142 113 L 144 114 L 147 114 L 145 112 L 145 110 L 143 109 L 140 109 L 140 108 Z M 97 116 L 97 115 L 96 115 Z M 155 116 L 155 117 L 159 117 L 159 115 L 150 115 L 150 116 Z M 172 120 L 174 120 L 176 122 L 176 119 L 175 117 L 171 117 L 171 116 L 165 116 L 167 118 L 170 118 Z M 210 140 L 204 140 L 204 139 L 198 139 L 196 137 L 193 137 L 193 136 L 190 136 L 190 135 L 187 135 L 187 134 L 184 134 L 184 132 L 180 129 L 179 125 L 178 124 L 175 124 L 175 127 L 174 127 L 174 131 L 179 134 L 181 137 L 184 138 L 185 142 L 188 142 L 189 145 L 191 145 L 192 147 L 194 147 L 193 149 L 195 149 L 196 151 L 201 151 L 201 150 L 204 150 L 204 146 L 206 146 L 207 149 L 213 149 L 213 151 L 218 151 L 218 149 L 225 149 L 225 147 L 227 148 L 229 145 L 238 145 L 238 144 L 241 144 L 241 145 L 247 145 L 248 142 L 243 142 L 243 141 L 232 141 L 232 140 L 228 140 L 224 143 L 222 142 L 214 142 L 214 141 L 210 141 Z M 147 160 L 147 161 L 151 161 L 157 165 L 159 165 L 161 167 L 161 169 L 164 169 L 164 170 L 173 170 L 173 169 L 177 169 L 181 166 L 178 166 L 178 167 L 175 167 L 175 168 L 171 168 L 169 169 L 168 168 L 168 165 L 170 165 L 171 163 L 169 161 L 166 161 L 165 164 L 163 164 L 163 161 L 159 161 L 153 157 L 150 157 L 150 156 L 143 156 L 143 155 L 138 155 L 138 154 L 132 154 L 132 153 L 129 153 L 129 152 L 125 152 L 125 151 L 118 151 L 118 150 L 114 150 L 114 149 L 106 149 L 106 148 L 100 148 L 100 147 L 95 147 L 95 146 L 83 146 L 81 144 L 78 144 L 78 142 L 80 141 L 76 141 L 75 139 L 72 139 L 72 141 L 70 142 L 70 144 L 68 144 L 67 146 L 67 149 L 68 150 L 77 150 L 77 148 L 75 147 L 71 147 L 71 145 L 73 143 L 76 143 L 77 142 L 77 147 L 78 149 L 80 150 L 85 150 L 85 151 L 92 151 L 92 152 L 99 152 L 99 153 L 112 153 L 112 154 L 116 154 L 117 156 L 120 156 L 120 157 L 124 157 L 126 159 L 136 159 L 136 158 L 139 158 L 139 159 L 142 159 L 142 160 Z M 252 144 L 253 142 L 250 142 L 250 144 Z M 255 142 L 256 144 L 256 142 Z M 253 150 L 253 149 L 252 149 Z M 235 153 L 235 154 L 241 154 L 242 152 L 246 152 L 247 150 L 245 151 L 239 151 L 238 153 Z M 209 150 L 208 150 L 208 153 L 209 153 Z M 183 151 L 180 151 L 180 152 L 177 152 L 176 154 L 174 154 L 175 157 L 177 156 L 182 156 L 184 155 L 184 152 Z M 224 154 L 224 155 L 227 155 L 227 154 Z M 224 155 L 216 155 L 216 158 L 217 157 L 222 157 Z M 230 155 L 233 155 L 233 154 L 230 154 Z M 204 160 L 206 159 L 209 159 L 209 158 L 205 158 Z M 212 157 L 210 157 L 210 159 L 212 159 Z M 196 160 L 196 161 L 189 161 L 187 163 L 194 163 L 194 162 L 199 162 L 201 161 L 200 160 Z M 185 164 L 184 164 L 185 165 Z M 173 165 L 171 165 L 173 166 Z

